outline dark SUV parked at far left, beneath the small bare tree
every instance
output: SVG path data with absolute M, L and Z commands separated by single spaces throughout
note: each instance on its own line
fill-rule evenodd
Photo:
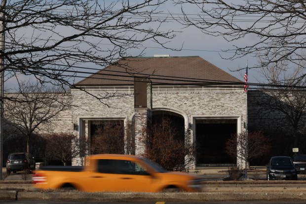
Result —
M 23 170 L 35 170 L 35 165 L 34 157 L 28 152 L 11 153 L 6 161 L 6 172 L 9 174 L 11 171 L 16 173 Z

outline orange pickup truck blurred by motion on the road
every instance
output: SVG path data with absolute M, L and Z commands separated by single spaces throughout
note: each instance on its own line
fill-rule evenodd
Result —
M 44 166 L 34 171 L 38 189 L 76 189 L 87 192 L 200 191 L 201 177 L 166 171 L 133 155 L 93 155 L 85 166 Z

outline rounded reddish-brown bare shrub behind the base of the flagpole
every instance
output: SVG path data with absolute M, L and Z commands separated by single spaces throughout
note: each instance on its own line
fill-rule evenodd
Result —
M 248 133 L 247 161 L 266 156 L 271 149 L 269 139 L 262 131 Z M 232 134 L 226 143 L 229 156 L 245 161 L 245 132 Z

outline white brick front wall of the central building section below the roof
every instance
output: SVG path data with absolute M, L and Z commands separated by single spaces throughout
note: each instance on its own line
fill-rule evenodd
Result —
M 116 87 L 85 87 L 86 91 L 95 96 L 103 96 L 106 92 L 116 94 L 133 94 L 133 86 L 124 86 L 120 89 Z M 245 122 L 246 114 L 246 97 L 243 89 L 235 88 L 207 88 L 196 86 L 153 86 L 152 90 L 152 106 L 154 108 L 164 107 L 169 111 L 177 111 L 186 115 L 188 122 L 192 125 L 193 117 L 232 117 L 237 116 L 238 131 L 242 131 L 243 122 Z M 77 123 L 82 120 L 94 119 L 126 119 L 131 120 L 142 118 L 135 124 L 135 146 L 136 154 L 141 154 L 144 151 L 143 143 L 139 142 L 141 124 L 146 125 L 143 121 L 144 117 L 150 118 L 150 113 L 135 111 L 134 97 L 120 96 L 111 97 L 103 100 L 101 103 L 98 99 L 88 95 L 84 91 L 72 90 L 73 107 L 72 120 Z M 145 111 L 147 112 L 147 111 Z M 142 117 L 142 115 L 144 117 Z M 187 124 L 188 124 L 187 122 Z M 194 125 L 193 125 L 194 126 Z M 83 130 L 81 130 L 83 131 Z M 79 133 L 79 132 L 76 132 Z M 191 131 L 192 134 L 192 131 Z M 79 163 L 75 161 L 75 164 Z

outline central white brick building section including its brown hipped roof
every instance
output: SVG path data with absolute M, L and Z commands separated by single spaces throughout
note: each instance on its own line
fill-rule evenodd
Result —
M 198 56 L 127 58 L 75 85 L 72 126 L 80 137 L 90 140 L 104 121 L 131 122 L 139 155 L 139 131 L 167 116 L 196 142 L 194 165 L 243 163 L 224 151 L 229 136 L 244 130 L 243 82 Z M 83 158 L 73 162 L 82 163 Z

